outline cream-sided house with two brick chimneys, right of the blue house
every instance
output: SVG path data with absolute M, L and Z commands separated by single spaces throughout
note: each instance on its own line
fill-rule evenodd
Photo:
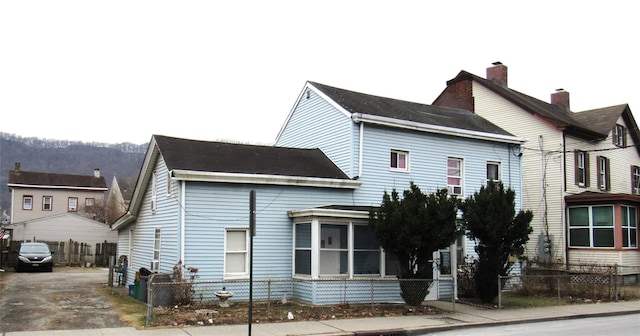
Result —
M 640 133 L 627 104 L 572 112 L 563 89 L 547 103 L 509 88 L 499 62 L 486 78 L 461 71 L 433 104 L 468 109 L 528 139 L 522 199 L 534 212 L 531 259 L 622 265 L 637 281 Z

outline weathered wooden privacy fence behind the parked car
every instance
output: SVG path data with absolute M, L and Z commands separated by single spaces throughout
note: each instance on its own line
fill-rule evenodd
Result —
M 33 241 L 46 243 L 51 252 L 53 252 L 53 263 L 59 266 L 93 266 L 106 267 L 109 265 L 109 257 L 115 256 L 117 251 L 117 243 L 97 243 L 95 253 L 93 247 L 88 243 L 77 242 L 69 239 L 68 241 Z M 11 241 L 9 247 L 8 258 L 3 260 L 3 266 L 13 267 L 15 265 L 16 253 L 20 249 L 20 241 Z

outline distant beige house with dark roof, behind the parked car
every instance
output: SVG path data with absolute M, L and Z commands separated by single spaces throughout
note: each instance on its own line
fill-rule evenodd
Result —
M 20 163 L 9 171 L 11 223 L 50 217 L 67 212 L 92 218 L 102 206 L 107 184 L 100 170 L 93 175 L 40 173 L 20 170 Z

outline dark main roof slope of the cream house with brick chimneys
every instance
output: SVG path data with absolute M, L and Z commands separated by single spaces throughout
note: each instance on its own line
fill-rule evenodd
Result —
M 567 111 L 560 106 L 544 102 L 540 99 L 510 89 L 506 86 L 500 85 L 486 78 L 476 76 L 464 70 L 460 71 L 455 78 L 447 81 L 447 86 L 453 85 L 463 80 L 476 81 L 487 89 L 495 92 L 497 95 L 510 101 L 514 105 L 519 106 L 523 110 L 538 115 L 555 127 L 566 129 L 577 136 L 597 140 L 605 138 L 608 134 L 608 132 L 601 133 L 588 127 L 587 124 L 583 124 L 575 118 L 575 113 Z M 437 100 L 438 99 L 436 98 L 436 101 Z

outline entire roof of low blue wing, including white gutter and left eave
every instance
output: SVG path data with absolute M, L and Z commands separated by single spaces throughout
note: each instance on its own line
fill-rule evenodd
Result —
M 342 189 L 356 189 L 362 184 L 350 179 L 317 148 L 258 146 L 154 135 L 129 211 L 114 223 L 113 230 L 135 220 L 159 157 L 175 180 Z

